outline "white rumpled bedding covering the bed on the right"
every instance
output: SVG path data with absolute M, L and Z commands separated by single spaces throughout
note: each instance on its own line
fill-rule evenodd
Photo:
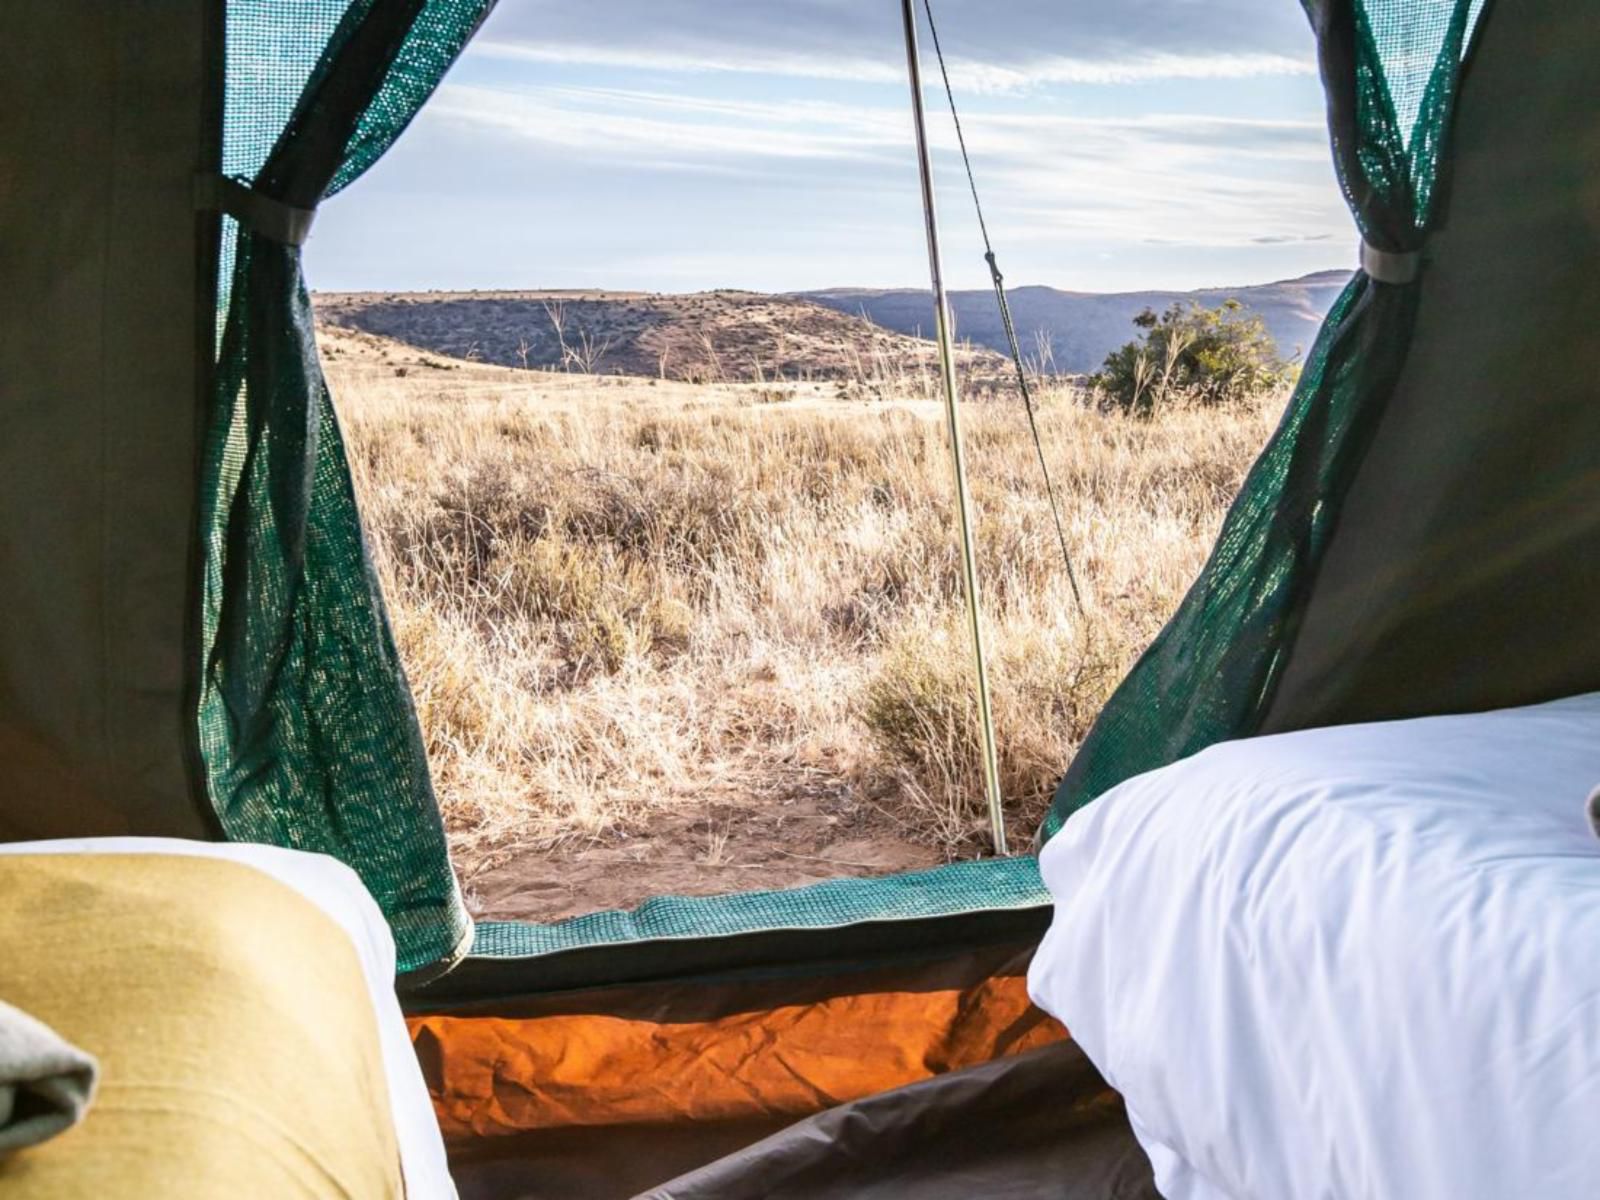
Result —
M 1168 1200 L 1600 1195 L 1600 694 L 1216 746 L 1045 848 L 1029 976 Z

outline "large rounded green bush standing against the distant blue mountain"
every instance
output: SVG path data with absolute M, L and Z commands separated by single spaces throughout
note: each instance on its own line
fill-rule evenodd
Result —
M 1238 301 L 1214 309 L 1189 301 L 1162 314 L 1146 309 L 1133 323 L 1142 333 L 1106 355 L 1090 376 L 1109 408 L 1152 413 L 1173 402 L 1232 405 L 1293 378 L 1267 326 Z

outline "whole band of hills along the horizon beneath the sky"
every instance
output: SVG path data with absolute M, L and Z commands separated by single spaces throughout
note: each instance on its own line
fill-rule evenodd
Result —
M 1130 341 L 1144 309 L 1237 299 L 1286 358 L 1304 357 L 1350 274 L 1197 291 L 1010 290 L 1022 354 L 1045 373 L 1082 374 Z M 453 360 L 682 382 L 896 381 L 928 376 L 933 302 L 917 288 L 805 293 L 526 290 L 317 293 L 323 326 Z M 994 293 L 950 293 L 968 376 L 1006 371 Z

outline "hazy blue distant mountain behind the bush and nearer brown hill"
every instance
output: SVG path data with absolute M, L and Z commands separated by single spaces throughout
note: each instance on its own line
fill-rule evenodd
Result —
M 1138 333 L 1133 318 L 1146 309 L 1160 312 L 1176 301 L 1216 306 L 1237 299 L 1258 314 L 1285 357 L 1304 357 L 1317 336 L 1322 318 L 1349 282 L 1347 270 L 1318 270 L 1302 278 L 1259 283 L 1243 288 L 1203 288 L 1200 291 L 1120 291 L 1090 293 L 1026 286 L 1008 290 L 1022 354 L 1037 360 L 1042 344 L 1058 371 L 1083 373 L 1099 368 L 1106 355 Z M 928 336 L 933 301 L 917 288 L 835 288 L 802 293 L 805 299 L 830 309 L 862 315 L 894 333 Z M 955 334 L 976 346 L 1005 352 L 1005 331 L 992 291 L 952 291 L 950 309 Z

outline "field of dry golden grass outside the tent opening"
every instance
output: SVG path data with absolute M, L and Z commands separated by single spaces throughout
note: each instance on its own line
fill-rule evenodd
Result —
M 333 384 L 458 846 L 621 835 L 709 794 L 795 787 L 848 790 L 946 854 L 981 846 L 934 405 L 491 366 L 402 378 L 349 355 Z M 1139 421 L 1045 395 L 1080 618 L 1021 411 L 968 406 L 1024 838 L 1277 408 Z

